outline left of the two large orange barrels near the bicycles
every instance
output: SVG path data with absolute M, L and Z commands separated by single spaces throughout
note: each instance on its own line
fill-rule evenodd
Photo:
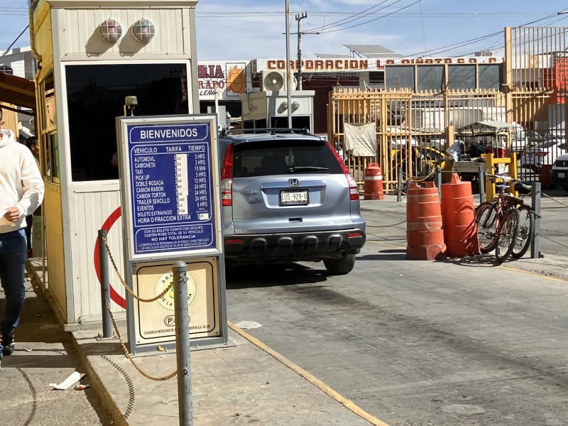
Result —
M 410 183 L 406 200 L 406 258 L 433 261 L 446 257 L 442 212 L 434 182 Z

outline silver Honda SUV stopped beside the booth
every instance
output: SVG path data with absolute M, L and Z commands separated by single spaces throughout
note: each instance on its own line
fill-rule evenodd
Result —
M 225 261 L 323 261 L 349 273 L 365 244 L 354 178 L 323 138 L 295 129 L 219 138 Z

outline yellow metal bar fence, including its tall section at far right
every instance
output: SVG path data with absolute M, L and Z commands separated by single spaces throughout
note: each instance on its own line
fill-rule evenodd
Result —
M 506 148 L 518 153 L 518 175 L 547 184 L 554 158 L 566 152 L 566 31 L 506 28 L 499 90 L 336 88 L 329 94 L 329 141 L 344 151 L 361 191 L 367 164 L 378 163 L 388 192 L 397 184 L 399 167 L 404 180 L 419 180 L 431 178 L 439 166 L 447 180 L 453 160 L 446 150 L 460 136 L 458 129 L 476 121 L 506 121 L 515 124 Z M 351 155 L 345 124 L 375 126 L 373 155 Z

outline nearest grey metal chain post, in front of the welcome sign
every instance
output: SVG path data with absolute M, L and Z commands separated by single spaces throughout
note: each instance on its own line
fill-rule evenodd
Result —
M 175 261 L 172 265 L 175 290 L 175 355 L 178 359 L 178 405 L 180 425 L 192 426 L 190 312 L 187 304 L 187 265 Z

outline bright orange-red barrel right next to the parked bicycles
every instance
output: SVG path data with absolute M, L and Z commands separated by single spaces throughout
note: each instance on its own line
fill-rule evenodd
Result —
M 461 182 L 457 173 L 442 190 L 442 228 L 447 256 L 479 254 L 479 238 L 475 222 L 474 196 L 471 182 Z

